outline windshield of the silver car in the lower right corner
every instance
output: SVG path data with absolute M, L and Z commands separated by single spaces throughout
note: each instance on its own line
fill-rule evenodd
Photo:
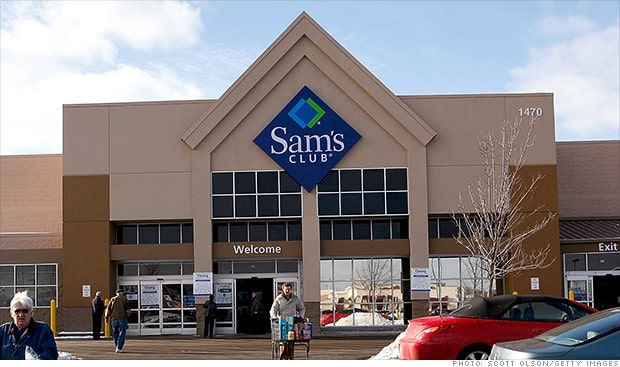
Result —
M 614 308 L 558 326 L 538 335 L 535 339 L 569 346 L 618 331 L 620 331 L 620 308 Z

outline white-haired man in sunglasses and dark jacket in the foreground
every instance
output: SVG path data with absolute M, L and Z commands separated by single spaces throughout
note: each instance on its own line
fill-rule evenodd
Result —
M 52 329 L 32 317 L 34 302 L 26 291 L 11 300 L 13 321 L 0 326 L 2 359 L 58 359 Z

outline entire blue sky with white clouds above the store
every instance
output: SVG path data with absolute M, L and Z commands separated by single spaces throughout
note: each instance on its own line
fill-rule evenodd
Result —
M 0 154 L 62 105 L 215 99 L 306 11 L 397 95 L 553 92 L 556 140 L 620 139 L 619 1 L 0 3 Z

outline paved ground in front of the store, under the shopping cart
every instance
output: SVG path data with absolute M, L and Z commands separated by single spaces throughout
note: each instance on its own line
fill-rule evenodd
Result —
M 310 342 L 309 359 L 369 359 L 391 344 L 398 334 L 320 336 Z M 235 336 L 203 339 L 196 336 L 129 337 L 122 353 L 114 353 L 111 339 L 57 339 L 59 352 L 77 359 L 112 360 L 270 360 L 269 337 Z M 305 359 L 305 347 L 296 346 L 295 359 Z

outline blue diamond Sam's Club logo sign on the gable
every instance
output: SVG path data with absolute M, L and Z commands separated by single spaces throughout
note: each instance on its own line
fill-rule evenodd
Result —
M 254 143 L 310 192 L 361 137 L 304 86 Z

